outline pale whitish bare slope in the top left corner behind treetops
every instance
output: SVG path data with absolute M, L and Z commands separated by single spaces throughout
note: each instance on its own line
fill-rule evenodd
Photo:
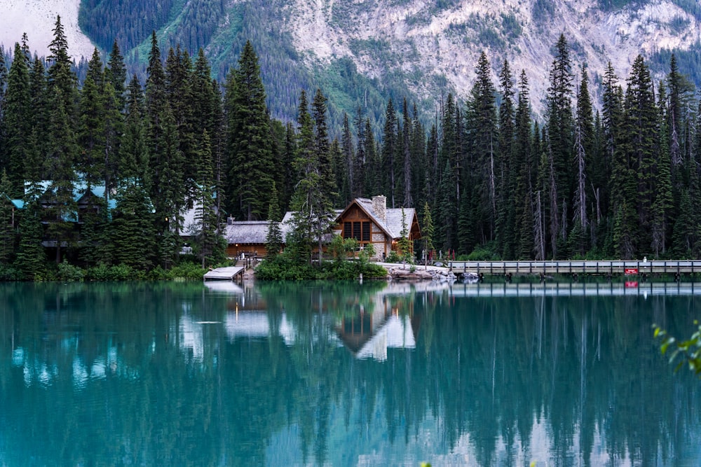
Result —
M 78 26 L 80 3 L 80 0 L 0 0 L 0 44 L 12 51 L 26 32 L 29 49 L 47 56 L 56 17 L 60 15 L 69 53 L 75 60 L 89 59 L 95 46 Z

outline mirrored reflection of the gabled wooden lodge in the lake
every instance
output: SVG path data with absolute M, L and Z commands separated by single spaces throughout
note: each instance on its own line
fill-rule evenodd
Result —
M 381 294 L 379 294 L 381 295 Z M 414 349 L 420 319 L 412 311 L 400 314 L 386 298 L 378 297 L 374 311 L 363 307 L 355 316 L 345 316 L 336 333 L 356 358 L 385 361 L 387 349 Z

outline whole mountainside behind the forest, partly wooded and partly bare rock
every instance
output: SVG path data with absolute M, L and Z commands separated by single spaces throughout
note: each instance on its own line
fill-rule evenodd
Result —
M 0 7 L 36 21 L 28 29 L 38 50 L 50 41 L 55 14 L 62 14 L 72 53 L 89 55 L 91 46 L 72 27 L 77 3 L 0 0 Z M 336 107 L 353 113 L 362 106 L 379 120 L 386 99 L 404 95 L 430 111 L 447 92 L 468 97 L 482 50 L 495 81 L 503 60 L 515 75 L 526 70 L 538 111 L 561 33 L 594 84 L 609 60 L 624 80 L 639 53 L 653 58 L 660 78 L 666 50 L 686 53 L 681 70 L 701 81 L 695 0 L 83 0 L 80 18 L 102 50 L 116 39 L 131 62 L 145 60 L 152 29 L 162 50 L 203 47 L 219 79 L 250 39 L 273 113 L 283 118 L 294 116 L 301 88 L 318 85 L 332 98 L 332 119 L 339 118 Z M 6 48 L 26 27 L 7 23 L 13 25 L 0 35 Z

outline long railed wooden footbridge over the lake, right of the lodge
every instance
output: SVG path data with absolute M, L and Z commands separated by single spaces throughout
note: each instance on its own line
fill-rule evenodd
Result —
M 635 275 L 647 277 L 651 274 L 695 274 L 701 272 L 701 260 L 682 261 L 449 261 L 454 274 L 477 274 L 512 277 L 519 274 L 536 274 L 540 277 L 552 274 L 590 275 Z

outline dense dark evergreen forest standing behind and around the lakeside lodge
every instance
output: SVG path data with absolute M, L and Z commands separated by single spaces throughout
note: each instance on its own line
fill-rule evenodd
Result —
M 482 53 L 469 95 L 437 97 L 428 125 L 400 97 L 379 129 L 362 106 L 336 129 L 321 85 L 299 89 L 294 121 L 272 117 L 251 42 L 222 82 L 203 49 L 164 52 L 155 32 L 145 78 L 128 76 L 114 41 L 79 80 L 60 18 L 53 37 L 46 60 L 26 36 L 0 55 L 0 264 L 20 277 L 50 262 L 167 270 L 188 229 L 215 264 L 228 216 L 295 211 L 287 242 L 300 245 L 329 230 L 334 208 L 379 194 L 433 231 L 419 255 L 701 256 L 701 107 L 675 55 L 659 82 L 641 55 L 629 76 L 609 63 L 592 92 L 560 36 L 538 119 L 526 71 Z M 79 230 L 76 184 L 105 193 Z M 196 225 L 184 225 L 191 206 Z

